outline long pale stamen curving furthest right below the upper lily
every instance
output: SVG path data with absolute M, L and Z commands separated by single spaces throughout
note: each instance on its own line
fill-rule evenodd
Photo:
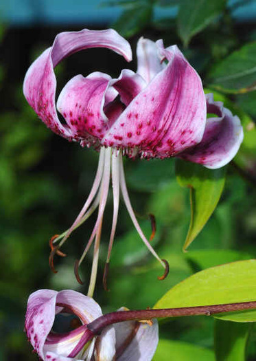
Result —
M 126 208 L 130 215 L 130 218 L 132 219 L 132 223 L 134 224 L 135 228 L 137 229 L 137 232 L 139 233 L 139 236 L 141 237 L 142 241 L 148 247 L 148 250 L 150 250 L 150 252 L 153 254 L 153 256 L 161 263 L 161 265 L 163 265 L 163 267 L 165 268 L 165 273 L 166 273 L 165 261 L 161 260 L 159 255 L 156 254 L 154 248 L 152 248 L 152 245 L 150 245 L 148 239 L 146 239 L 145 235 L 143 234 L 143 232 L 139 226 L 139 223 L 137 221 L 137 218 L 135 217 L 135 212 L 133 211 L 132 205 L 130 204 L 130 198 L 129 198 L 128 190 L 126 187 L 126 179 L 124 177 L 124 166 L 123 166 L 123 162 L 122 162 L 121 158 L 120 158 L 120 186 L 121 186 L 121 193 L 124 198 L 124 203 L 126 204 Z M 166 274 L 166 276 L 167 276 L 167 274 Z

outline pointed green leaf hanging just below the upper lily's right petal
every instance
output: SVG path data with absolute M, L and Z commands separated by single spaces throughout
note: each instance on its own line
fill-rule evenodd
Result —
M 190 188 L 191 219 L 184 250 L 194 241 L 215 210 L 224 187 L 224 175 L 224 167 L 208 169 L 200 164 L 176 161 L 178 183 Z

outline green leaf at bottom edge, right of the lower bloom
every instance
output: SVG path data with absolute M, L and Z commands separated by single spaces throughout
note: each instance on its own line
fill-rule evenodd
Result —
M 153 361 L 214 361 L 213 351 L 187 342 L 159 340 Z

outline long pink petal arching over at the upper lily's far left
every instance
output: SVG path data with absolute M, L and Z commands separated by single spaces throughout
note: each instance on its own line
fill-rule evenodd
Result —
M 61 124 L 56 112 L 54 67 L 63 58 L 91 47 L 106 47 L 123 55 L 127 61 L 132 59 L 129 43 L 115 30 L 62 32 L 56 36 L 53 46 L 34 61 L 25 75 L 23 93 L 27 102 L 47 127 L 70 140 L 73 139 L 73 133 L 69 127 Z

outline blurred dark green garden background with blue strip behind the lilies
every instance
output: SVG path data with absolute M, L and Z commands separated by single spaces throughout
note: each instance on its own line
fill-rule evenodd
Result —
M 255 258 L 256 1 L 208 1 L 210 8 L 205 5 L 196 15 L 191 12 L 191 3 L 196 8 L 203 1 L 190 1 L 189 5 L 187 0 L 1 0 L 0 360 L 36 360 L 23 333 L 31 292 L 71 288 L 86 293 L 91 271 L 89 254 L 80 267 L 85 282 L 79 285 L 73 265 L 91 234 L 94 217 L 72 234 L 64 248 L 67 257 L 56 257 L 58 274 L 49 270 L 49 239 L 71 226 L 78 215 L 93 183 L 98 154 L 51 133 L 22 93 L 27 68 L 59 32 L 113 27 L 130 41 L 133 54 L 140 36 L 163 39 L 166 46 L 177 44 L 202 76 L 205 87 L 240 116 L 246 131 L 242 149 L 227 167 L 220 203 L 187 253 L 182 247 L 190 218 L 189 190 L 176 182 L 175 161 L 126 160 L 132 205 L 148 236 L 148 214 L 156 217 L 153 245 L 161 258 L 169 261 L 170 275 L 157 281 L 161 267 L 148 254 L 121 204 L 108 276 L 110 292 L 104 292 L 102 273 L 113 209 L 110 194 L 95 290 L 95 300 L 104 312 L 121 306 L 152 307 L 167 289 L 194 272 Z M 233 52 L 241 49 L 232 61 L 230 56 L 234 58 Z M 230 66 L 224 63 L 226 59 Z M 127 64 L 110 50 L 73 54 L 56 68 L 57 96 L 76 74 L 100 71 L 117 77 L 124 67 L 136 71 L 136 56 Z M 233 77 L 236 70 L 244 72 L 242 80 Z M 231 77 L 226 80 L 224 75 L 229 72 Z M 174 360 L 189 360 L 181 354 L 184 347 L 206 355 L 198 360 L 213 357 L 211 318 L 166 322 L 161 325 L 161 337 L 172 342 Z M 251 361 L 256 360 L 255 339 L 253 331 L 248 344 Z M 156 360 L 171 360 L 170 353 L 163 356 L 170 344 L 162 342 L 163 351 Z

